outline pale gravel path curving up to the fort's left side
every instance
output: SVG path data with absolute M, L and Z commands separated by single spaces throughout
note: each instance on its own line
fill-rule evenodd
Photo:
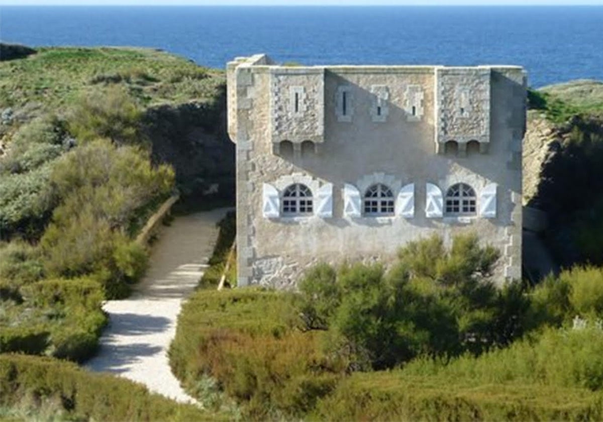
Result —
M 163 227 L 151 253 L 147 275 L 127 300 L 110 300 L 109 327 L 99 353 L 87 362 L 145 384 L 178 402 L 194 402 L 169 368 L 167 351 L 175 335 L 180 304 L 197 285 L 215 245 L 218 222 L 227 209 L 177 217 Z

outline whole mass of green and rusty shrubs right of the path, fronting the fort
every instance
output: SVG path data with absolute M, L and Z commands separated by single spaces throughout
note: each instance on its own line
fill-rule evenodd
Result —
M 234 400 L 252 420 L 599 418 L 603 271 L 496 289 L 496 257 L 474 236 L 450 249 L 434 237 L 388 271 L 318 265 L 297 294 L 197 291 L 172 370 L 202 403 Z

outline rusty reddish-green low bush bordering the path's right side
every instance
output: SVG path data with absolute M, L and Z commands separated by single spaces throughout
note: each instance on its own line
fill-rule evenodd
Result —
M 347 361 L 324 353 L 324 332 L 301 330 L 295 300 L 257 289 L 196 292 L 178 316 L 172 371 L 191 394 L 212 377 L 246 418 L 300 417 L 335 388 Z

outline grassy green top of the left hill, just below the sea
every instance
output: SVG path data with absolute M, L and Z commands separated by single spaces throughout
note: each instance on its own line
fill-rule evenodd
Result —
M 61 110 L 81 93 L 124 83 L 145 105 L 210 101 L 223 73 L 163 51 L 140 48 L 39 48 L 0 62 L 0 107 Z

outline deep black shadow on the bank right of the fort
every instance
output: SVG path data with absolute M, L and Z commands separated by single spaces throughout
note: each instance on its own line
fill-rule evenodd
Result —
M 574 116 L 555 128 L 528 206 L 545 211 L 545 244 L 561 266 L 603 263 L 603 118 Z

